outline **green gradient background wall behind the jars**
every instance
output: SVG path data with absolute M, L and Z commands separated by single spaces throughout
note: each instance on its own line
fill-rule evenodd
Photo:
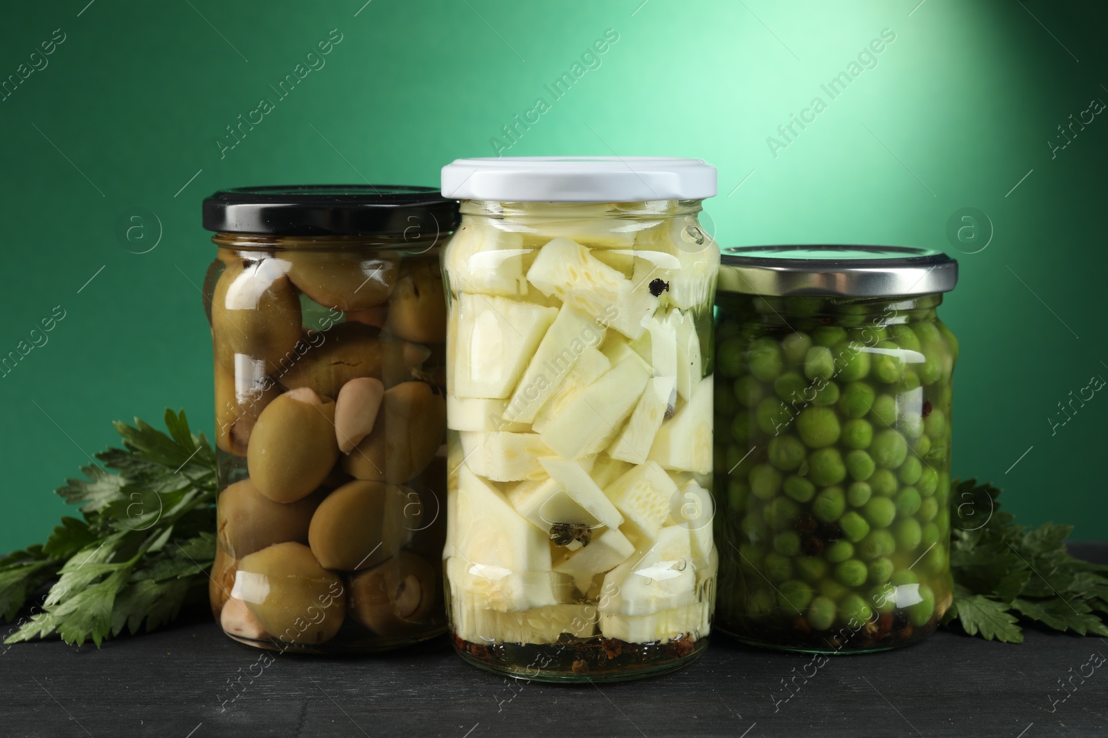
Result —
M 1108 376 L 1108 121 L 1054 159 L 1045 143 L 1091 97 L 1108 100 L 1108 13 L 1044 0 L 363 1 L 0 11 L 0 76 L 54 29 L 66 34 L 49 66 L 0 102 L 0 353 L 54 305 L 66 311 L 49 343 L 0 378 L 0 549 L 44 538 L 65 511 L 51 490 L 84 451 L 114 443 L 110 420 L 160 422 L 168 404 L 211 428 L 195 287 L 213 253 L 202 197 L 363 177 L 435 185 L 451 159 L 491 155 L 501 126 L 607 28 L 619 40 L 603 65 L 509 153 L 704 158 L 719 168 L 707 210 L 724 245 L 911 243 L 957 256 L 947 219 L 981 208 L 995 236 L 960 257 L 942 310 L 962 341 L 955 474 L 1002 485 L 1025 523 L 1108 538 L 1108 397 L 1055 436 L 1046 419 L 1090 375 Z M 220 159 L 224 127 L 335 28 L 343 40 L 326 66 Z M 896 40 L 879 65 L 774 158 L 766 137 L 884 28 Z M 116 239 L 132 208 L 163 227 L 148 253 Z

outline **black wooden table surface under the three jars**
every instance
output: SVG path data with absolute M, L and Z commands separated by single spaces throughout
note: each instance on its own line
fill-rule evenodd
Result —
M 1108 543 L 1074 552 L 1108 561 Z M 258 657 L 199 617 L 99 651 L 11 646 L 0 653 L 0 735 L 1108 736 L 1108 663 L 1090 665 L 1108 642 L 1029 628 L 1022 645 L 941 631 L 831 658 L 807 680 L 810 656 L 721 636 L 681 672 L 599 686 L 485 674 L 445 638 L 371 658 Z

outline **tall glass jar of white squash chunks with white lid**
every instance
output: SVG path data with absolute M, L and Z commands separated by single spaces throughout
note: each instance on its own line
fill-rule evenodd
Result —
M 719 249 L 695 159 L 459 159 L 448 288 L 454 645 L 558 680 L 678 668 L 707 646 Z

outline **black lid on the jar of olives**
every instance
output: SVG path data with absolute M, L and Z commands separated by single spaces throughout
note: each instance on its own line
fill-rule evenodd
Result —
M 222 189 L 204 200 L 204 228 L 271 236 L 435 233 L 458 227 L 458 202 L 434 187 L 284 185 Z

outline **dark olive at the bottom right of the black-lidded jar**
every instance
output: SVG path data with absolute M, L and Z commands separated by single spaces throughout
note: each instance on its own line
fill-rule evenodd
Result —
M 439 578 L 423 558 L 401 551 L 350 576 L 350 614 L 378 635 L 420 631 L 439 600 Z

